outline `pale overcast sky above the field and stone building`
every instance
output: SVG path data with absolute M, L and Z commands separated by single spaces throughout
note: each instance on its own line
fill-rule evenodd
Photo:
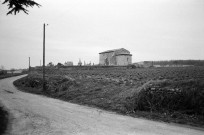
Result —
M 2 3 L 2 1 L 0 1 Z M 42 7 L 6 15 L 0 4 L 0 65 L 99 63 L 102 51 L 125 48 L 133 62 L 204 59 L 204 0 L 36 0 Z M 56 3 L 58 2 L 58 3 Z

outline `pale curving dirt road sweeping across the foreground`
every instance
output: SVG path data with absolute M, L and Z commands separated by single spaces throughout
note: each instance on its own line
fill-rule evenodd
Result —
M 117 115 L 18 91 L 0 80 L 0 103 L 11 113 L 11 135 L 203 135 L 204 130 Z

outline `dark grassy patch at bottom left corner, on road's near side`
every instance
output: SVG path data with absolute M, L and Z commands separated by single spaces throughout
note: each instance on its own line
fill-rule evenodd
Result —
M 8 125 L 8 113 L 0 107 L 0 135 L 3 135 Z

